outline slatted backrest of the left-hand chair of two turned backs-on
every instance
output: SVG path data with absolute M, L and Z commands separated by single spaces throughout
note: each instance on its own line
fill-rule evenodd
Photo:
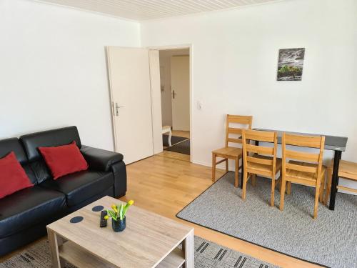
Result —
M 275 176 L 276 174 L 276 148 L 277 148 L 277 134 L 275 131 L 256 131 L 243 129 L 243 161 L 244 167 L 249 169 L 250 164 L 263 164 L 270 167 L 271 174 L 267 176 Z M 250 144 L 251 141 L 269 142 L 273 143 L 273 147 L 263 145 Z M 263 155 L 269 159 L 253 157 L 252 154 Z

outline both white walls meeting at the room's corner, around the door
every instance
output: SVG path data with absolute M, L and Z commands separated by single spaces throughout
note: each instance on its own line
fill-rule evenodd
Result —
M 228 113 L 347 136 L 343 159 L 357 162 L 356 14 L 355 0 L 287 0 L 139 24 L 0 0 L 0 139 L 75 124 L 84 144 L 113 149 L 104 46 L 192 44 L 193 162 L 211 164 Z M 278 49 L 294 47 L 303 81 L 276 81 Z

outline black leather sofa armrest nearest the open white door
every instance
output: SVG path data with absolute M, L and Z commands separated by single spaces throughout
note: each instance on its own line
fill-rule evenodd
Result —
M 111 167 L 123 161 L 123 154 L 82 145 L 81 153 L 91 169 L 109 172 Z

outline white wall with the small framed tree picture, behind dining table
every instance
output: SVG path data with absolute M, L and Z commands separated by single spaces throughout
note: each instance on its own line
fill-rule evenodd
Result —
M 357 161 L 356 14 L 354 0 L 291 0 L 141 24 L 142 46 L 192 44 L 193 162 L 211 165 L 226 114 L 346 136 L 343 159 Z M 296 47 L 303 81 L 276 81 L 278 49 Z

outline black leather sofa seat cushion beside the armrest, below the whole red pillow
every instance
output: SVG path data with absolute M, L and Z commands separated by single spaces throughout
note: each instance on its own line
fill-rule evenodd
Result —
M 47 179 L 39 184 L 66 195 L 67 205 L 75 206 L 114 185 L 113 172 L 86 170 L 66 175 L 59 179 Z

